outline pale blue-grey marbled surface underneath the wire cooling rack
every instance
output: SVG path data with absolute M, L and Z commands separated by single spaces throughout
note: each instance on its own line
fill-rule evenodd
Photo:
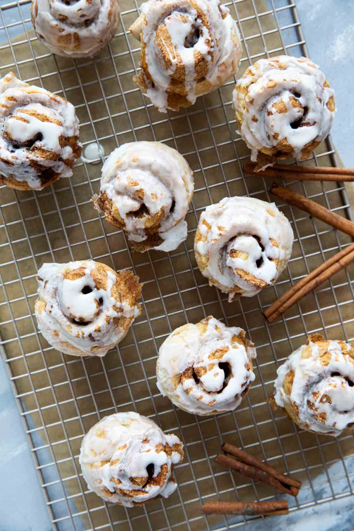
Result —
M 6 0 L 7 1 L 7 0 Z M 0 5 L 5 4 L 0 0 Z M 277 0 L 274 5 L 277 7 Z M 284 5 L 279 2 L 279 5 Z M 354 57 L 354 2 L 352 0 L 297 0 L 300 21 L 303 25 L 310 57 L 321 65 L 331 85 L 335 87 L 338 113 L 332 136 L 344 164 L 354 167 L 354 149 L 352 148 L 352 127 L 354 126 L 354 107 L 351 102 L 351 84 L 354 81 L 352 57 Z M 7 23 L 13 21 L 6 21 Z M 23 30 L 22 30 L 23 31 Z M 21 31 L 21 32 L 22 32 Z M 15 36 L 12 30 L 11 37 Z M 2 40 L 2 39 L 0 39 Z M 298 55 L 295 50 L 292 52 Z M 8 381 L 4 362 L 0 358 L 0 433 L 6 434 L 0 440 L 0 531 L 48 531 L 51 524 L 47 509 L 37 481 L 31 451 L 25 436 L 21 417 L 16 408 L 13 392 Z M 40 446 L 40 440 L 35 441 Z M 50 459 L 48 452 L 40 456 L 41 462 Z M 347 460 L 349 472 L 354 472 L 352 459 Z M 50 467 L 51 468 L 51 467 Z M 54 473 L 48 474 L 45 481 L 57 479 Z M 341 475 L 341 465 L 333 465 L 331 476 Z M 4 479 L 6 478 L 6 480 Z M 317 478 L 318 479 L 318 478 Z M 325 482 L 325 478 L 324 478 Z M 306 485 L 305 485 L 306 487 Z M 60 498 L 54 487 L 49 495 Z M 321 497 L 326 495 L 323 486 Z M 336 484 L 336 493 L 344 492 L 347 483 L 340 480 Z M 310 489 L 304 489 L 304 496 Z M 318 492 L 320 494 L 320 492 Z M 328 492 L 328 495 L 331 493 Z M 306 498 L 301 501 L 306 501 Z M 54 506 L 56 517 L 67 514 L 63 504 Z M 350 531 L 354 527 L 354 507 L 351 497 L 343 498 L 320 506 L 296 511 L 286 517 L 270 518 L 255 522 L 252 531 Z M 71 523 L 64 520 L 58 525 L 60 531 L 72 529 Z M 83 524 L 77 522 L 77 530 Z

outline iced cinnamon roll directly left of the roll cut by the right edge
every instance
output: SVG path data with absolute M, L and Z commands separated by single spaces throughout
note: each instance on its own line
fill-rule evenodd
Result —
M 239 406 L 255 379 L 256 350 L 245 331 L 209 316 L 177 328 L 163 342 L 157 387 L 175 406 L 213 415 Z

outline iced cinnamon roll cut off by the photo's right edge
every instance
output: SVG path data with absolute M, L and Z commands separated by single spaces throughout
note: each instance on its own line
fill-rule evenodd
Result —
M 283 363 L 270 399 L 302 429 L 338 436 L 354 426 L 354 347 L 320 334 Z

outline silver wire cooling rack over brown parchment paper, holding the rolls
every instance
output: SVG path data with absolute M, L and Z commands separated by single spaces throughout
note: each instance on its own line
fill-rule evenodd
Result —
M 177 114 L 161 115 L 144 99 L 132 81 L 140 50 L 127 31 L 138 5 L 133 0 L 121 4 L 120 26 L 110 46 L 95 61 L 74 62 L 48 54 L 34 37 L 29 0 L 0 1 L 0 75 L 13 70 L 25 81 L 72 101 L 84 145 L 98 141 L 108 155 L 123 142 L 160 140 L 177 148 L 195 172 L 188 238 L 170 254 L 132 254 L 124 233 L 98 216 L 91 196 L 99 189 L 101 164 L 78 162 L 70 180 L 61 179 L 41 192 L 1 189 L 3 356 L 53 527 L 194 531 L 249 524 L 248 517 L 205 517 L 199 512 L 205 501 L 267 500 L 276 495 L 215 465 L 223 440 L 303 480 L 298 498 L 288 500 L 291 512 L 348 496 L 354 477 L 351 436 L 332 439 L 298 430 L 281 413 L 273 413 L 266 398 L 272 394 L 277 366 L 309 333 L 354 338 L 354 271 L 342 271 L 274 324 L 264 321 L 262 311 L 293 281 L 351 243 L 350 238 L 280 204 L 296 241 L 288 270 L 278 284 L 233 304 L 206 284 L 193 253 L 200 213 L 226 195 L 248 194 L 272 201 L 267 192 L 270 183 L 245 178 L 241 171 L 249 152 L 235 132 L 234 80 Z M 234 0 L 226 5 L 243 38 L 240 74 L 261 57 L 307 55 L 295 2 Z M 323 143 L 307 164 L 336 165 L 331 141 Z M 344 186 L 286 185 L 351 217 Z M 131 268 L 144 282 L 141 317 L 119 348 L 102 359 L 80 359 L 53 350 L 37 332 L 33 318 L 41 264 L 88 258 L 116 270 Z M 161 397 L 156 356 L 171 330 L 211 314 L 247 330 L 257 347 L 256 381 L 236 412 L 198 418 Z M 87 490 L 78 456 L 89 427 L 105 415 L 128 410 L 176 433 L 184 442 L 185 459 L 176 467 L 178 490 L 168 500 L 126 510 L 103 503 Z

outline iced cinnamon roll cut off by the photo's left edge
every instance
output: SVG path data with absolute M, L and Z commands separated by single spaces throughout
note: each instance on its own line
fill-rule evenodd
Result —
M 48 90 L 0 79 L 0 184 L 41 190 L 71 177 L 81 155 L 74 106 Z

